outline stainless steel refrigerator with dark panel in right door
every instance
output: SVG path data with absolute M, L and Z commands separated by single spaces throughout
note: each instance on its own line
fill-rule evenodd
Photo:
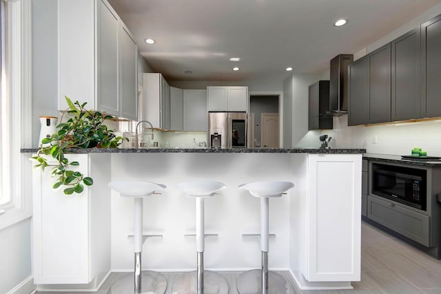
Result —
M 211 148 L 247 148 L 247 113 L 209 112 L 208 143 Z

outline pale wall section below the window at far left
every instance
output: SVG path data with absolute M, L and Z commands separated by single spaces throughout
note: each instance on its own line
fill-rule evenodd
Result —
M 0 293 L 32 275 L 30 219 L 0 230 Z

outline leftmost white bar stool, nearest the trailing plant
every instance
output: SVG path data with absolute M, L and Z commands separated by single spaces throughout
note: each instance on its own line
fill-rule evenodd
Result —
M 107 294 L 150 293 L 163 294 L 167 289 L 167 280 L 155 271 L 142 271 L 141 252 L 147 237 L 162 237 L 162 235 L 143 235 L 143 200 L 151 196 L 156 189 L 165 185 L 154 182 L 112 181 L 108 187 L 121 193 L 121 197 L 134 200 L 134 274 L 125 275 L 116 280 Z M 129 236 L 130 237 L 130 236 Z

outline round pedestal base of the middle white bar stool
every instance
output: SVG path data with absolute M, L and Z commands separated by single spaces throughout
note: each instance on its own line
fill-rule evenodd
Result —
M 172 294 L 196 294 L 196 271 L 181 273 L 174 281 Z M 214 271 L 204 271 L 204 294 L 227 294 L 229 291 L 225 277 Z

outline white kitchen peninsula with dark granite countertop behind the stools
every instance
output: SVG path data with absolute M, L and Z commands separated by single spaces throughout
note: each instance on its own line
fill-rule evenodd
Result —
M 22 152 L 35 152 L 23 149 Z M 351 288 L 360 280 L 361 172 L 364 149 L 74 149 L 72 159 L 94 178 L 78 196 L 51 188 L 34 172 L 34 281 L 43 289 L 99 288 L 110 271 L 132 269 L 132 200 L 110 180 L 167 185 L 144 201 L 143 265 L 156 271 L 194 269 L 194 201 L 176 187 L 218 180 L 227 189 L 205 202 L 205 267 L 260 267 L 259 200 L 245 182 L 294 182 L 269 201 L 269 269 L 290 271 L 300 288 Z M 83 226 L 83 229 L 78 229 Z M 82 242 L 77 244 L 77 242 Z M 49 245 L 48 245 L 49 244 Z M 73 245 L 75 244 L 75 245 Z M 69 266 L 66 266 L 66 265 Z

